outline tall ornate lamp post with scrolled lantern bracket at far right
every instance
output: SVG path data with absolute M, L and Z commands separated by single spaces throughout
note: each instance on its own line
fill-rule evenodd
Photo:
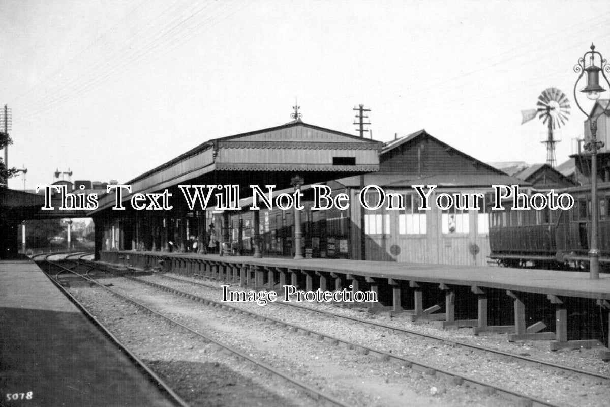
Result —
M 596 61 L 596 56 L 598 61 Z M 606 77 L 605 71 L 610 73 L 610 65 L 603 59 L 601 54 L 595 51 L 595 45 L 591 44 L 591 51 L 584 53 L 584 56 L 578 60 L 578 63 L 574 65 L 574 71 L 580 73 L 576 83 L 574 84 L 574 100 L 578 109 L 584 113 L 589 120 L 589 126 L 591 129 L 591 139 L 584 145 L 584 148 L 591 152 L 591 242 L 589 245 L 589 278 L 599 279 L 600 278 L 600 251 L 597 248 L 597 226 L 599 222 L 600 214 L 598 213 L 598 197 L 597 197 L 597 150 L 604 146 L 603 142 L 597 141 L 597 119 L 603 113 L 608 110 L 608 105 L 598 115 L 595 115 L 595 110 L 590 114 L 585 112 L 578 103 L 576 98 L 576 86 L 583 77 L 584 73 L 587 73 L 587 86 L 584 87 L 581 92 L 586 93 L 587 98 L 595 101 L 600 98 L 600 93 L 605 92 L 605 88 L 600 86 L 600 72 L 606 80 L 606 83 L 610 87 L 610 82 Z

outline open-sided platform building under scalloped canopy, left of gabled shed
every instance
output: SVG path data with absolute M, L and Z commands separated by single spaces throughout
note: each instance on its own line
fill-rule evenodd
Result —
M 207 210 L 190 210 L 178 185 L 237 185 L 240 196 L 251 195 L 249 185 L 275 185 L 281 190 L 300 190 L 311 182 L 326 182 L 379 170 L 382 143 L 307 124 L 297 119 L 274 128 L 221 137 L 204 142 L 125 184 L 126 209 L 113 210 L 115 194 L 99 198 L 99 207 L 90 212 L 96 228 L 96 252 L 102 250 L 206 251 L 210 226 L 215 238 L 227 250 L 239 226 L 231 222 L 234 213 L 215 214 L 212 196 Z M 171 193 L 170 211 L 136 211 L 129 205 L 135 193 Z M 264 241 L 259 231 L 268 229 L 268 215 L 249 211 L 249 222 L 242 222 L 240 251 L 259 254 Z M 302 211 L 285 212 L 292 239 L 301 239 Z M 295 213 L 298 216 L 295 217 Z M 264 216 L 262 226 L 260 217 Z M 286 240 L 288 241 L 288 240 Z M 196 247 L 193 243 L 197 242 Z M 301 245 L 302 247 L 303 245 Z M 264 250 L 266 251 L 266 250 Z

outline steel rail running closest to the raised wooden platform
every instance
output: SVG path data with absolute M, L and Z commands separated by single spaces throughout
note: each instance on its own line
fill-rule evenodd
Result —
M 219 287 L 212 286 L 211 284 L 203 284 L 203 283 L 198 283 L 196 281 L 188 281 L 188 280 L 185 280 L 185 279 L 182 279 L 182 278 L 176 278 L 176 277 L 167 276 L 167 275 L 163 275 L 163 274 L 158 274 L 158 276 L 161 276 L 163 278 L 173 279 L 173 280 L 176 280 L 176 281 L 180 281 L 181 283 L 196 284 L 198 286 L 209 287 L 210 289 L 214 289 L 214 290 L 221 290 Z M 556 363 L 553 363 L 553 362 L 542 361 L 542 360 L 536 359 L 536 358 L 528 358 L 527 356 L 515 355 L 514 353 L 509 353 L 509 352 L 502 351 L 502 350 L 486 348 L 486 347 L 482 347 L 480 345 L 468 344 L 466 342 L 461 342 L 459 340 L 447 339 L 447 338 L 443 338 L 443 337 L 440 337 L 440 336 L 435 336 L 435 335 L 431 335 L 431 334 L 421 333 L 421 332 L 418 332 L 418 331 L 408 330 L 406 328 L 400 328 L 398 326 L 386 325 L 385 323 L 370 322 L 370 321 L 367 321 L 367 320 L 364 320 L 364 319 L 359 319 L 359 318 L 356 318 L 356 317 L 350 317 L 348 315 L 336 314 L 335 312 L 331 312 L 331 311 L 323 311 L 321 309 L 309 308 L 309 307 L 306 307 L 306 306 L 303 306 L 303 305 L 299 305 L 299 304 L 292 304 L 292 303 L 287 303 L 287 302 L 284 302 L 284 301 L 276 301 L 275 304 L 281 304 L 281 305 L 285 305 L 285 306 L 292 306 L 292 307 L 295 307 L 295 308 L 298 308 L 298 309 L 303 309 L 305 311 L 315 312 L 317 314 L 328 315 L 328 316 L 332 316 L 332 317 L 346 319 L 346 320 L 350 320 L 350 321 L 354 321 L 354 322 L 363 323 L 365 325 L 377 326 L 379 328 L 386 328 L 387 330 L 391 330 L 391 331 L 397 331 L 397 332 L 400 332 L 400 333 L 406 333 L 406 334 L 411 334 L 411 335 L 414 335 L 414 336 L 425 337 L 426 339 L 437 340 L 437 341 L 443 342 L 445 344 L 457 345 L 457 346 L 461 346 L 461 347 L 464 347 L 464 348 L 472 348 L 472 349 L 476 349 L 476 350 L 479 350 L 479 351 L 493 353 L 493 354 L 496 354 L 496 355 L 507 356 L 509 358 L 518 359 L 520 361 L 529 362 L 531 364 L 535 364 L 535 365 L 539 365 L 539 366 L 542 365 L 542 366 L 552 367 L 554 369 L 565 370 L 565 371 L 570 372 L 570 373 L 578 373 L 580 375 L 584 375 L 584 376 L 589 376 L 589 377 L 594 377 L 594 378 L 603 379 L 603 380 L 609 380 L 610 381 L 610 376 L 604 375 L 603 373 L 589 372 L 588 370 L 578 369 L 576 367 L 564 366 L 564 365 L 556 364 Z

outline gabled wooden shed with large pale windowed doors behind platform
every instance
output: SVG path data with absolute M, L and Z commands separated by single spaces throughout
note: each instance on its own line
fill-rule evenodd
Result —
M 311 202 L 306 203 L 301 215 L 306 256 L 463 265 L 487 264 L 486 206 L 492 199 L 491 185 L 517 184 L 524 190 L 530 185 L 458 151 L 425 130 L 385 143 L 378 172 L 337 178 L 325 184 L 334 194 L 350 196 L 350 207 L 343 211 L 315 211 Z M 366 185 L 378 185 L 386 193 L 401 195 L 403 209 L 363 210 L 358 198 Z M 418 209 L 420 198 L 413 185 L 436 185 L 428 211 Z M 303 189 L 307 191 L 309 187 Z M 481 193 L 484 199 L 479 201 L 480 210 L 442 211 L 434 204 L 440 193 Z M 377 199 L 378 194 L 368 194 L 369 206 L 375 206 Z M 264 210 L 260 217 L 263 253 L 293 256 L 293 214 Z M 231 236 L 242 253 L 252 251 L 252 224 L 248 211 L 231 215 Z

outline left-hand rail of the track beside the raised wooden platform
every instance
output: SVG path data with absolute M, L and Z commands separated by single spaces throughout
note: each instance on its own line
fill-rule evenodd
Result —
M 282 326 L 282 327 L 290 327 L 290 328 L 292 328 L 292 330 L 294 332 L 303 331 L 304 333 L 306 333 L 307 336 L 312 336 L 312 335 L 317 336 L 318 340 L 329 339 L 329 340 L 331 340 L 331 342 L 334 345 L 339 345 L 340 343 L 342 343 L 342 344 L 346 345 L 346 348 L 348 348 L 350 350 L 358 350 L 358 351 L 360 351 L 364 355 L 368 355 L 370 353 L 373 353 L 373 354 L 379 355 L 379 357 L 382 360 L 384 360 L 384 361 L 393 360 L 393 361 L 400 362 L 405 367 L 409 367 L 409 368 L 417 367 L 418 370 L 422 370 L 427 375 L 440 376 L 442 378 L 450 380 L 454 384 L 463 384 L 463 383 L 465 383 L 465 384 L 468 384 L 468 385 L 470 385 L 472 387 L 483 389 L 484 391 L 496 392 L 498 394 L 502 394 L 502 395 L 508 396 L 509 398 L 513 398 L 513 399 L 515 399 L 515 400 L 517 400 L 519 402 L 529 403 L 529 405 L 531 405 L 531 406 L 548 406 L 548 407 L 556 407 L 557 406 L 557 405 L 554 405 L 551 402 L 548 402 L 547 400 L 542 400 L 542 399 L 537 398 L 537 397 L 533 397 L 533 396 L 530 396 L 530 395 L 522 394 L 520 392 L 513 391 L 511 389 L 506 389 L 505 387 L 497 386 L 495 384 L 485 383 L 483 381 L 479 381 L 479 380 L 476 380 L 474 378 L 470 378 L 468 376 L 461 375 L 460 373 L 454 373 L 454 372 L 450 372 L 448 370 L 442 369 L 442 368 L 437 367 L 437 366 L 432 366 L 432 365 L 427 364 L 427 363 L 422 362 L 422 361 L 417 361 L 415 359 L 404 358 L 403 356 L 398 356 L 398 355 L 395 355 L 393 353 L 389 353 L 389 352 L 382 351 L 382 350 L 379 350 L 379 349 L 371 348 L 371 347 L 368 347 L 366 345 L 354 344 L 353 342 L 350 342 L 349 340 L 346 340 L 346 339 L 342 339 L 342 338 L 335 337 L 335 336 L 332 336 L 332 335 L 329 335 L 329 334 L 325 334 L 325 333 L 321 333 L 321 332 L 318 332 L 318 331 L 310 330 L 309 328 L 305 328 L 303 326 L 296 325 L 296 324 L 289 323 L 289 322 L 285 322 L 285 321 L 282 321 L 282 320 L 279 320 L 279 319 L 275 319 L 273 317 L 267 317 L 265 315 L 256 314 L 256 312 L 246 311 L 245 309 L 241 309 L 241 308 L 238 308 L 238 307 L 235 307 L 235 306 L 231 306 L 231 305 L 227 305 L 227 304 L 224 304 L 224 303 L 220 303 L 219 301 L 210 300 L 209 298 L 199 297 L 198 295 L 193 295 L 193 294 L 190 294 L 190 293 L 187 293 L 187 292 L 176 290 L 176 289 L 173 289 L 173 288 L 168 287 L 168 286 L 163 286 L 162 284 L 152 283 L 150 281 L 145 281 L 145 280 L 134 278 L 134 277 L 131 277 L 131 276 L 124 276 L 124 277 L 129 279 L 130 281 L 137 281 L 138 283 L 146 284 L 146 285 L 151 286 L 151 287 L 156 287 L 158 289 L 161 289 L 161 290 L 164 290 L 164 291 L 167 291 L 167 292 L 171 292 L 172 294 L 176 294 L 176 295 L 179 295 L 181 297 L 185 297 L 185 298 L 187 298 L 189 300 L 198 301 L 199 303 L 203 303 L 203 304 L 206 304 L 208 306 L 218 307 L 218 308 L 221 308 L 221 309 L 228 309 L 228 310 L 231 310 L 233 312 L 239 312 L 241 314 L 251 315 L 252 317 L 254 317 L 256 319 L 263 320 L 265 322 L 271 322 L 274 325 L 279 325 L 279 326 Z

